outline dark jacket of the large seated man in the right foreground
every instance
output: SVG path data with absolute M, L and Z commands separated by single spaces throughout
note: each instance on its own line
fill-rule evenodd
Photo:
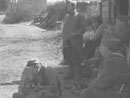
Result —
M 129 69 L 124 57 L 112 54 L 105 59 L 99 70 L 98 77 L 87 89 L 86 98 L 117 98 L 123 84 L 128 81 Z M 88 97 L 87 97 L 88 96 Z

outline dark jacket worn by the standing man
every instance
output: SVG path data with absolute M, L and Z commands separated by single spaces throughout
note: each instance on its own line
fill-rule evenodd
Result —
M 85 33 L 85 18 L 79 13 L 72 13 L 65 17 L 63 26 L 63 45 L 68 40 L 82 57 L 83 34 Z

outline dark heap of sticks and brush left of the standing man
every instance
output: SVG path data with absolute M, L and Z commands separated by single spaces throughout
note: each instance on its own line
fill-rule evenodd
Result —
M 49 5 L 46 10 L 43 10 L 36 16 L 31 25 L 38 26 L 42 29 L 51 30 L 59 28 L 64 16 L 66 15 L 66 3 L 56 3 Z

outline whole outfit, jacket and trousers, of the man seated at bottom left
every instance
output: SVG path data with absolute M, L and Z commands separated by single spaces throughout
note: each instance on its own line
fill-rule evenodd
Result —
M 36 86 L 44 86 L 36 89 Z M 18 93 L 13 98 L 57 98 L 61 95 L 61 84 L 57 74 L 51 67 L 41 67 L 39 73 L 33 74 L 30 67 L 26 67 L 22 73 Z

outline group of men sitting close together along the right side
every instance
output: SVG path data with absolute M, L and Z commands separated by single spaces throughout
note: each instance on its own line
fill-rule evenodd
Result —
M 87 64 L 92 60 L 91 64 L 93 64 L 97 60 L 99 64 L 96 61 L 93 68 L 97 75 L 90 81 L 88 88 L 82 91 L 81 98 L 130 97 L 130 70 L 127 59 L 130 51 L 128 21 L 129 17 L 119 15 L 114 25 L 102 24 L 91 38 L 92 41 L 100 39 L 99 47 L 96 49 L 96 53 L 100 55 L 85 62 Z

